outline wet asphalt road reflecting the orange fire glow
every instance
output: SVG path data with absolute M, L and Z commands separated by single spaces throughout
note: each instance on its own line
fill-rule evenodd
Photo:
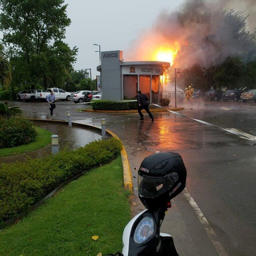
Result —
M 56 115 L 50 117 L 47 103 L 15 103 L 32 118 L 66 120 L 66 111 L 71 111 L 73 121 L 100 125 L 105 117 L 107 129 L 116 133 L 126 147 L 135 194 L 134 168 L 139 168 L 144 157 L 165 150 L 181 154 L 187 168 L 187 191 L 215 235 L 209 234 L 209 229 L 207 233 L 198 213 L 184 193 L 180 194 L 173 200 L 161 230 L 174 237 L 180 255 L 255 255 L 256 145 L 252 141 L 171 113 L 154 114 L 152 123 L 147 116 L 138 121 L 137 114 L 78 113 L 76 109 L 83 105 L 59 104 Z M 192 107 L 182 113 L 256 136 L 256 104 L 194 102 Z M 141 204 L 135 207 L 136 211 L 142 208 Z

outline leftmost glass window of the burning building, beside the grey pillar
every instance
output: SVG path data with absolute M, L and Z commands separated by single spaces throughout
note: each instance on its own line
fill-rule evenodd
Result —
M 138 90 L 138 76 L 137 75 L 123 75 L 124 100 L 137 99 Z

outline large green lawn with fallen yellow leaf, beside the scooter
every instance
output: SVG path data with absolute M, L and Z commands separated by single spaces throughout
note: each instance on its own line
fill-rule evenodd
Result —
M 131 218 L 122 160 L 85 174 L 18 223 L 0 231 L 0 255 L 96 256 L 122 250 Z M 97 235 L 97 241 L 92 236 Z

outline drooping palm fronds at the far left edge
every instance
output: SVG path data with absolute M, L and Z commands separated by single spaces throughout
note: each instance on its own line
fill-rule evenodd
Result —
M 10 86 L 11 80 L 11 66 L 4 57 L 4 47 L 0 43 L 0 85 L 3 85 L 7 89 Z

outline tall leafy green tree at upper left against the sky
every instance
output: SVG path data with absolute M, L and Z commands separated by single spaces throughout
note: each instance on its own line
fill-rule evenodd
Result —
M 77 48 L 62 40 L 71 21 L 64 0 L 1 0 L 0 29 L 15 82 L 62 86 Z

